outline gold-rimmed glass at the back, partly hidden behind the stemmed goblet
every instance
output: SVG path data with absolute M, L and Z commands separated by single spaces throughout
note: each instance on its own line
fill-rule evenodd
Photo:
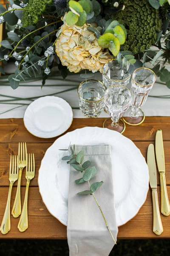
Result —
M 122 67 L 122 62 L 119 64 L 117 60 L 114 60 L 103 66 L 102 77 L 103 84 L 108 88 L 112 85 L 127 86 L 131 74 L 128 73 L 125 67 Z

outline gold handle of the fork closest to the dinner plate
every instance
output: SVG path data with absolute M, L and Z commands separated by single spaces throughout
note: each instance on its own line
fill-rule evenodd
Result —
M 30 179 L 27 180 L 23 209 L 20 216 L 20 221 L 18 223 L 18 229 L 20 230 L 20 232 L 24 232 L 28 228 L 28 204 L 27 203 L 28 203 L 29 183 L 30 183 Z

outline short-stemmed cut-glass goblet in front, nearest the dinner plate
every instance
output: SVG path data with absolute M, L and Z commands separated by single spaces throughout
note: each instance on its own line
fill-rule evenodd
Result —
M 111 116 L 105 119 L 104 128 L 123 133 L 125 131 L 125 122 L 119 119 L 130 106 L 132 94 L 129 89 L 121 85 L 113 85 L 105 91 L 105 108 Z

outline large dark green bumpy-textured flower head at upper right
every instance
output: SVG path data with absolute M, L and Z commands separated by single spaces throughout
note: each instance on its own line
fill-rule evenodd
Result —
M 143 52 L 156 42 L 161 30 L 159 11 L 154 9 L 148 0 L 128 1 L 125 10 L 112 15 L 127 29 L 124 50 L 133 53 Z

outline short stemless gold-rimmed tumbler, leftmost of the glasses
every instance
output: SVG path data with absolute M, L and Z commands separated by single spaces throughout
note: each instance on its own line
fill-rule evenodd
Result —
M 104 110 L 104 94 L 106 87 L 98 80 L 87 80 L 79 84 L 79 106 L 87 117 L 98 117 Z

